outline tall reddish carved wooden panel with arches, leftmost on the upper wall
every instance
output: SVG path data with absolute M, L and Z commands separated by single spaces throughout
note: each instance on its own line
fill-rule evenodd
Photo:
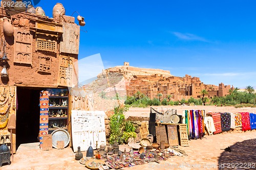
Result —
M 33 36 L 28 31 L 15 30 L 14 34 L 14 62 L 32 64 Z

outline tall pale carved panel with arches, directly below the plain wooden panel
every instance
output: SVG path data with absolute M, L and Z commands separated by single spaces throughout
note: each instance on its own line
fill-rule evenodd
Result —
M 60 56 L 58 85 L 68 87 L 72 86 L 73 63 L 74 58 Z

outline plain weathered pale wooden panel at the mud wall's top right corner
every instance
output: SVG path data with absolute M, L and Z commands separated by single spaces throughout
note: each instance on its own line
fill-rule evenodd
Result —
M 80 27 L 63 22 L 63 34 L 60 40 L 60 53 L 78 54 Z

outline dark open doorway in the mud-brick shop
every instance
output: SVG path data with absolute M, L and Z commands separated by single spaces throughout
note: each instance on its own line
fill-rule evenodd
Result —
M 16 148 L 38 142 L 40 88 L 17 87 Z

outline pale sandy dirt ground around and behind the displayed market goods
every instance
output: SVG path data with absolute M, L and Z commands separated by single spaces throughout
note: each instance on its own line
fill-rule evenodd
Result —
M 215 107 L 215 106 L 173 106 L 178 114 L 182 110 L 204 109 L 206 112 L 256 112 L 256 108 Z M 130 108 L 126 116 L 149 116 L 150 108 Z M 14 155 L 11 165 L 4 164 L 0 169 L 87 169 L 75 160 L 71 148 L 64 150 L 41 151 L 39 143 L 22 144 Z M 223 149 L 230 147 L 231 152 Z M 124 169 L 256 169 L 256 130 L 229 131 L 189 140 L 189 147 L 180 147 L 187 156 L 173 156 L 160 163 L 152 162 Z M 86 153 L 83 152 L 83 156 Z

